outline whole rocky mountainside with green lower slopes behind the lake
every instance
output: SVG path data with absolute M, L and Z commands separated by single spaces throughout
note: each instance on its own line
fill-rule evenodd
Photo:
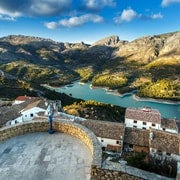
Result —
M 118 89 L 120 93 L 138 89 L 140 96 L 177 100 L 179 47 L 180 32 L 131 42 L 110 36 L 92 45 L 11 35 L 0 38 L 0 70 L 36 87 L 81 79 L 92 81 L 94 86 Z M 171 93 L 161 96 L 158 86 L 152 96 L 147 93 L 149 86 L 164 81 L 171 82 Z M 169 91 L 163 87 L 161 92 Z

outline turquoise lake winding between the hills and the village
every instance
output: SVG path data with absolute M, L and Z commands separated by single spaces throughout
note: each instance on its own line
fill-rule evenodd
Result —
M 166 101 L 157 101 L 149 99 L 136 99 L 135 95 L 126 94 L 119 96 L 106 91 L 103 88 L 91 89 L 90 84 L 84 85 L 74 82 L 71 85 L 63 86 L 56 89 L 57 92 L 72 95 L 75 98 L 84 100 L 95 100 L 103 103 L 114 104 L 122 107 L 151 107 L 158 109 L 163 118 L 173 118 L 180 120 L 180 102 L 169 103 Z

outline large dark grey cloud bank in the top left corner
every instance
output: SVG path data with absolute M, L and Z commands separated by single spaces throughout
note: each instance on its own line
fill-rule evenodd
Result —
M 54 16 L 71 8 L 72 0 L 0 0 L 0 14 L 17 18 L 21 16 Z

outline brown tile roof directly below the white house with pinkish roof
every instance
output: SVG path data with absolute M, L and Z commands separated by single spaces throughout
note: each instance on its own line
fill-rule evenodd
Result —
M 149 131 L 126 127 L 124 133 L 124 143 L 149 147 Z

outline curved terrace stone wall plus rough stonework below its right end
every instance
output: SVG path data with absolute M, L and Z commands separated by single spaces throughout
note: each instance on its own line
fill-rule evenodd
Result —
M 53 127 L 58 132 L 67 133 L 69 135 L 79 138 L 84 142 L 92 153 L 92 165 L 91 165 L 91 180 L 137 180 L 141 179 L 135 175 L 130 175 L 127 172 L 121 171 L 119 168 L 104 168 L 102 167 L 102 150 L 101 144 L 92 131 L 74 122 L 67 122 L 62 120 L 56 120 L 53 123 Z M 4 127 L 0 129 L 0 141 L 8 138 L 33 132 L 47 132 L 49 129 L 49 122 L 46 120 L 35 120 L 24 123 L 19 123 L 13 126 Z M 139 170 L 138 170 L 139 171 Z M 136 174 L 136 173 L 135 173 Z

